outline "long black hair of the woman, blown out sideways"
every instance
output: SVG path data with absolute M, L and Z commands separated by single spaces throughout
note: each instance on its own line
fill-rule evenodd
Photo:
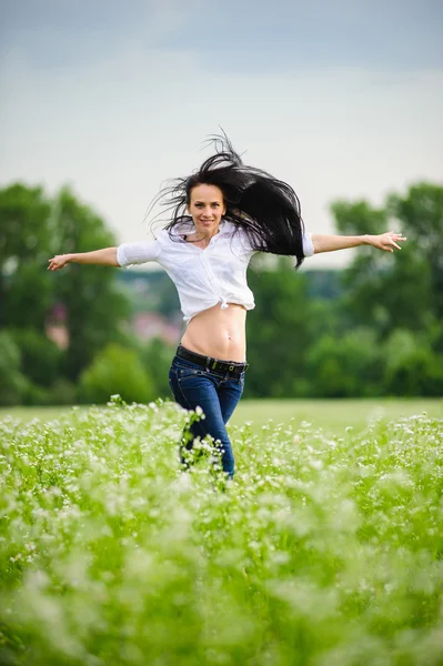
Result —
M 192 175 L 179 178 L 163 188 L 150 210 L 155 203 L 167 206 L 170 222 L 165 229 L 172 231 L 178 224 L 192 220 L 187 214 L 192 189 L 201 184 L 217 185 L 226 206 L 224 219 L 246 232 L 252 248 L 296 256 L 295 268 L 299 268 L 304 259 L 304 224 L 294 190 L 266 171 L 243 164 L 224 133 L 208 141 L 214 144 L 215 154 Z

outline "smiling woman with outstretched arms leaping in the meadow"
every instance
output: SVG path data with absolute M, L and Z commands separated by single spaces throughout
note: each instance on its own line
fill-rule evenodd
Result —
M 179 179 L 157 201 L 169 204 L 171 221 L 157 240 L 124 243 L 94 252 L 62 254 L 49 270 L 67 263 L 129 266 L 157 261 L 173 280 L 187 330 L 170 369 L 175 401 L 201 407 L 202 418 L 184 433 L 181 461 L 195 437 L 211 435 L 223 472 L 234 474 L 234 456 L 225 424 L 244 386 L 246 311 L 254 299 L 246 269 L 255 252 L 296 258 L 369 244 L 400 250 L 405 241 L 394 232 L 340 236 L 304 231 L 300 202 L 290 185 L 243 164 L 226 138 L 215 139 L 215 154 L 199 171 Z

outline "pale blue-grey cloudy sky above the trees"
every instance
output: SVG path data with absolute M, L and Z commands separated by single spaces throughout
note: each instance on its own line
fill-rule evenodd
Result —
M 142 240 L 221 127 L 334 233 L 338 199 L 443 181 L 442 33 L 440 0 L 0 0 L 0 186 L 70 184 Z

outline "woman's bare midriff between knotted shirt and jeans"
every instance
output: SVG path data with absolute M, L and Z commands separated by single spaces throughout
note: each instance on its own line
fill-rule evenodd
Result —
M 199 312 L 189 322 L 181 344 L 197 354 L 220 361 L 246 360 L 246 310 L 243 305 L 220 303 Z

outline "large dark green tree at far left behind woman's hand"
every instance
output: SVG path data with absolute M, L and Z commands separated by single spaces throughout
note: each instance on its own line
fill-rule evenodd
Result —
M 0 329 L 13 329 L 20 356 L 31 364 L 32 374 L 44 379 L 36 335 L 46 336 L 57 304 L 64 304 L 67 312 L 69 347 L 61 370 L 70 381 L 107 343 L 124 337 L 120 324 L 129 305 L 115 285 L 115 269 L 73 264 L 61 273 L 47 271 L 48 259 L 56 253 L 114 244 L 104 221 L 68 188 L 53 201 L 42 188 L 23 183 L 0 190 Z M 52 354 L 48 344 L 40 347 Z

